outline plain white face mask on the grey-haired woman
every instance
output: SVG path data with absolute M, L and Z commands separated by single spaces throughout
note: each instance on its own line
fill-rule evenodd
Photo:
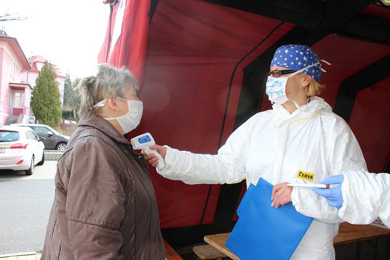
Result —
M 134 130 L 139 125 L 139 122 L 141 122 L 143 104 L 141 101 L 138 100 L 127 100 L 122 97 L 117 97 L 117 99 L 127 101 L 129 111 L 124 115 L 118 117 L 103 117 L 103 119 L 117 120 L 123 132 L 128 133 L 131 130 Z M 94 106 L 94 108 L 103 107 L 104 102 L 106 101 L 107 99 L 100 101 L 98 104 Z

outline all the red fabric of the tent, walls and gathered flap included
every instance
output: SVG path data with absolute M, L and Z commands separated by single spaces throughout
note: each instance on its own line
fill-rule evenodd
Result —
M 149 17 L 149 10 L 144 7 L 141 24 L 146 27 L 144 18 L 146 13 Z M 217 152 L 221 134 L 224 144 L 234 130 L 243 70 L 294 28 L 293 24 L 202 0 L 159 0 L 148 25 L 148 37 L 144 38 L 143 31 L 137 44 L 132 44 L 138 40 L 133 30 L 139 32 L 134 24 L 135 19 L 129 18 L 123 23 L 122 35 L 109 59 L 118 67 L 127 65 L 142 82 L 138 94 L 144 113 L 141 124 L 128 138 L 150 132 L 157 144 L 210 154 Z M 107 53 L 109 31 L 100 62 Z M 143 75 L 142 69 L 135 69 L 142 67 L 138 62 L 141 59 L 132 56 L 144 55 L 141 42 L 147 46 Z M 311 47 L 321 59 L 332 63 L 324 65 L 327 73 L 323 73 L 321 83 L 327 87 L 320 95 L 332 107 L 343 80 L 390 54 L 389 46 L 332 34 Z M 258 87 L 262 84 L 259 82 Z M 389 92 L 390 82 L 385 79 L 374 84 L 374 90 L 358 93 L 349 122 L 371 172 L 381 172 L 389 160 Z M 271 109 L 265 93 L 262 100 L 259 111 Z M 209 194 L 209 185 L 189 186 L 164 179 L 153 167 L 149 169 L 161 228 L 214 223 L 220 185 L 212 185 Z M 244 192 L 243 187 L 241 196 Z

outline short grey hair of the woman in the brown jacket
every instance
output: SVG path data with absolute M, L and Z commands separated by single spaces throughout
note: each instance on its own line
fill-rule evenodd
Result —
M 101 107 L 94 108 L 98 102 L 110 97 L 123 97 L 128 87 L 138 90 L 137 80 L 126 67 L 116 69 L 106 63 L 98 65 L 96 76 L 85 77 L 78 83 L 80 93 L 80 116 L 99 115 Z

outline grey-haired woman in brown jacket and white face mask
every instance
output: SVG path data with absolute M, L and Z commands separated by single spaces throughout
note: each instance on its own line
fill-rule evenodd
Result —
M 78 129 L 59 159 L 42 260 L 165 260 L 156 195 L 123 135 L 142 102 L 133 75 L 107 64 L 83 78 Z

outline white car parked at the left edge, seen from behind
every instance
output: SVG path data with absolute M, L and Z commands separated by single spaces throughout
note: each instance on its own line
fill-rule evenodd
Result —
M 0 169 L 33 174 L 35 165 L 45 162 L 43 139 L 28 127 L 0 127 Z

